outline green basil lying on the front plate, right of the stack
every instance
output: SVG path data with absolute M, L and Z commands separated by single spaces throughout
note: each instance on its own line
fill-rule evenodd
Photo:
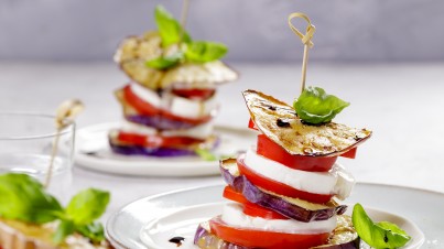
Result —
M 373 248 L 403 247 L 411 239 L 404 230 L 392 223 L 375 224 L 359 203 L 353 208 L 351 220 L 359 237 Z

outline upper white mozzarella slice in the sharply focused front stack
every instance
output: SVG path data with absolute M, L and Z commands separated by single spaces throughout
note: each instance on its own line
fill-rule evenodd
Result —
M 333 194 L 339 199 L 348 197 L 355 185 L 355 178 L 339 164 L 335 164 L 329 172 L 300 171 L 259 155 L 252 149 L 247 151 L 245 164 L 257 174 L 296 190 L 314 194 Z

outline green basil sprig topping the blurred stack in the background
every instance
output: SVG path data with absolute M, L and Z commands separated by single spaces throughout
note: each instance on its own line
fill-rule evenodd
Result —
M 162 46 L 167 48 L 171 45 L 177 44 L 182 51 L 172 55 L 163 55 L 150 59 L 145 63 L 148 67 L 154 69 L 167 69 L 182 62 L 213 62 L 221 58 L 228 52 L 228 47 L 221 43 L 193 41 L 189 34 L 183 30 L 178 21 L 175 20 L 162 6 L 155 8 L 154 17 L 162 39 Z

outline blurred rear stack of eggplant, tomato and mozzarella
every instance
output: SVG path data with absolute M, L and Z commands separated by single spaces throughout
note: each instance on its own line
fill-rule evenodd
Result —
M 220 61 L 148 67 L 147 61 L 170 53 L 163 50 L 160 34 L 150 32 L 124 40 L 116 53 L 131 78 L 116 91 L 124 116 L 121 127 L 109 133 L 116 153 L 177 156 L 217 144 L 212 123 L 218 109 L 216 86 L 235 80 L 237 73 Z

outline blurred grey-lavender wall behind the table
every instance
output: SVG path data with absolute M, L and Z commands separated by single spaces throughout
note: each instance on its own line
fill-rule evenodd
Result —
M 154 28 L 158 3 L 180 15 L 180 0 L 0 0 L 0 61 L 110 61 L 124 36 Z M 187 29 L 228 44 L 228 61 L 299 61 L 293 11 L 317 28 L 311 59 L 444 61 L 442 0 L 192 0 Z

